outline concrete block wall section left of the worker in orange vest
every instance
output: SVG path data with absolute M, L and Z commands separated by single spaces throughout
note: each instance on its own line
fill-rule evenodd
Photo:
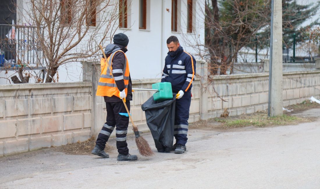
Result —
M 92 83 L 0 86 L 0 156 L 91 136 Z

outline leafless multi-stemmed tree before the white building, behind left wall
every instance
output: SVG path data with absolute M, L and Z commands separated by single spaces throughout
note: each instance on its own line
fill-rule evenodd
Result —
M 33 45 L 43 52 L 36 56 L 37 66 L 43 60 L 46 67 L 45 81 L 40 82 L 55 82 L 63 64 L 97 59 L 98 45 L 111 41 L 118 28 L 118 6 L 113 0 L 29 0 L 20 7 L 27 12 L 25 22 L 34 27 Z M 21 62 L 19 53 L 17 57 Z

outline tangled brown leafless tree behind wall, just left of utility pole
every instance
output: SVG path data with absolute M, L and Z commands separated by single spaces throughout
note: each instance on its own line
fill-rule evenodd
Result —
M 216 75 L 233 71 L 238 52 L 255 42 L 256 34 L 269 24 L 269 1 L 217 0 L 205 4 L 205 47 L 210 52 L 210 71 Z

